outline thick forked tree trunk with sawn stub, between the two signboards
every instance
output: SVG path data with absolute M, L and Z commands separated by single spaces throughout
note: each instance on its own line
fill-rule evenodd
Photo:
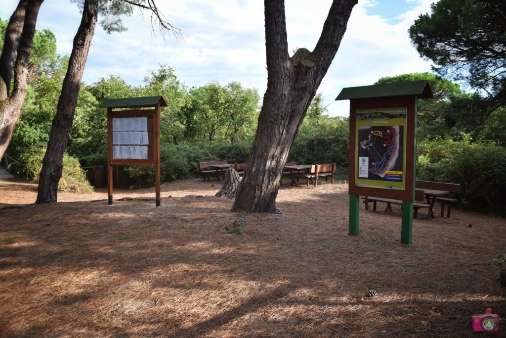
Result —
M 257 134 L 232 211 L 277 212 L 288 153 L 346 31 L 357 0 L 333 0 L 313 52 L 288 55 L 283 0 L 265 0 L 267 91 Z

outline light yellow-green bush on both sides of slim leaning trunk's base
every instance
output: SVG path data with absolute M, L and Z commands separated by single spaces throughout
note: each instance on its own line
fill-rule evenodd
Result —
M 42 160 L 46 153 L 46 147 L 30 146 L 21 155 L 20 161 L 24 166 L 24 173 L 27 177 L 38 181 L 38 175 L 42 168 Z M 93 192 L 93 187 L 86 178 L 86 173 L 79 165 L 79 161 L 67 154 L 63 156 L 63 172 L 59 192 L 71 192 L 79 194 L 89 194 Z

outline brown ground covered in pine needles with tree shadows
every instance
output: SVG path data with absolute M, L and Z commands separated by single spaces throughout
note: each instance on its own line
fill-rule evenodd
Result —
M 398 206 L 362 206 L 349 236 L 346 184 L 285 184 L 283 214 L 247 214 L 238 236 L 220 186 L 163 185 L 160 207 L 149 189 L 33 205 L 35 184 L 0 180 L 0 336 L 467 337 L 487 307 L 504 336 L 503 218 L 420 210 L 407 246 Z

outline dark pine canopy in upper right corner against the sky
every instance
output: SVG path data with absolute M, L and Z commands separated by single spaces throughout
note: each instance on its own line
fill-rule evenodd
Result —
M 409 28 L 418 53 L 438 65 L 443 76 L 496 95 L 503 92 L 506 2 L 441 0 L 431 9 Z

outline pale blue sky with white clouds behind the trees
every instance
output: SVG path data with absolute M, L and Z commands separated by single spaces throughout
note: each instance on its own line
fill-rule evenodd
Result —
M 329 116 L 349 116 L 349 101 L 335 101 L 345 87 L 372 85 L 379 78 L 431 70 L 411 46 L 408 29 L 436 0 L 359 0 L 346 33 L 318 93 Z M 290 55 L 313 50 L 331 0 L 285 0 Z M 2 0 L 0 18 L 8 19 L 18 1 Z M 182 37 L 151 28 L 150 16 L 135 12 L 123 18 L 126 32 L 107 34 L 99 25 L 83 75 L 92 84 L 109 74 L 142 85 L 148 70 L 166 64 L 188 87 L 210 81 L 267 88 L 263 2 L 260 0 L 170 0 L 157 6 Z M 57 52 L 70 55 L 81 14 L 70 0 L 47 0 L 36 28 L 50 29 Z M 99 18 L 100 20 L 100 18 Z

